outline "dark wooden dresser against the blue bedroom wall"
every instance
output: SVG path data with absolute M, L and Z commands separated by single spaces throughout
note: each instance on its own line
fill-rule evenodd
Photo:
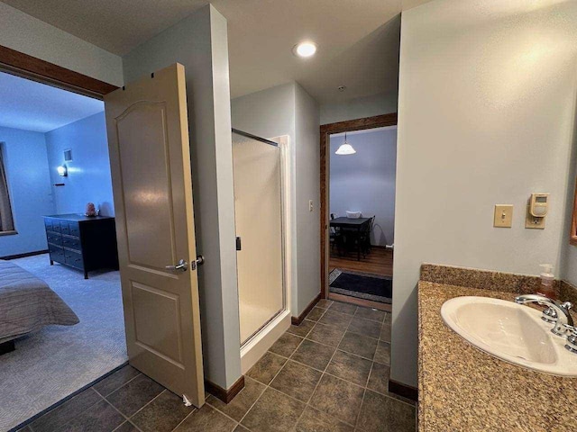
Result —
M 81 214 L 44 216 L 50 266 L 57 263 L 84 272 L 99 268 L 118 270 L 114 218 Z

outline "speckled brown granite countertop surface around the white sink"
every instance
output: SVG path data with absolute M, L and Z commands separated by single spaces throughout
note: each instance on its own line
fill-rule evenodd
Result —
M 541 374 L 481 352 L 446 327 L 453 297 L 516 293 L 418 284 L 419 432 L 577 431 L 577 378 Z

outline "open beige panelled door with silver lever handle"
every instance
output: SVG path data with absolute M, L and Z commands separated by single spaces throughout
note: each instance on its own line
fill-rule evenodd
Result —
M 105 95 L 105 113 L 130 364 L 201 406 L 184 67 Z

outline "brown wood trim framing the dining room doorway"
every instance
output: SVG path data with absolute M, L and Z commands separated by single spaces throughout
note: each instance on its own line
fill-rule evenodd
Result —
M 365 117 L 363 119 L 339 121 L 336 123 L 328 123 L 321 125 L 320 135 L 320 151 L 321 151 L 321 215 L 320 215 L 320 228 L 321 228 L 321 299 L 328 298 L 328 253 L 329 245 L 327 241 L 328 233 L 328 161 L 329 159 L 329 149 L 328 145 L 329 136 L 334 133 L 350 132 L 353 130 L 366 130 L 383 128 L 386 126 L 396 126 L 397 125 L 397 112 L 391 112 L 389 114 L 375 115 L 373 117 Z

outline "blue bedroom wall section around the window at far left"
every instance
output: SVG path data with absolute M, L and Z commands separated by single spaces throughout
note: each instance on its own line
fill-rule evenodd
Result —
M 18 234 L 0 236 L 0 257 L 45 250 L 42 216 L 55 212 L 41 132 L 0 128 L 0 147 Z

